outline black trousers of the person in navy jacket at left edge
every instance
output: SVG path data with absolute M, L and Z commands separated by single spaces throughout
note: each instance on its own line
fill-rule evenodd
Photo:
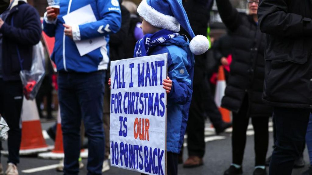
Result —
M 9 126 L 8 131 L 8 163 L 19 163 L 19 149 L 22 139 L 21 110 L 23 89 L 21 81 L 5 82 L 0 79 L 0 114 Z

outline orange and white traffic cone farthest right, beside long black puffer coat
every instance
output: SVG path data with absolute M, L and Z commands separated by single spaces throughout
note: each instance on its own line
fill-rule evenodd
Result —
M 215 102 L 222 115 L 222 120 L 225 122 L 231 122 L 230 111 L 221 107 L 221 100 L 224 96 L 226 86 L 223 66 L 219 66 Z

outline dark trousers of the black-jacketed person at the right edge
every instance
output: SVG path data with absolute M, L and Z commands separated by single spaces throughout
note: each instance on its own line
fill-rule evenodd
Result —
M 270 175 L 291 175 L 295 158 L 302 154 L 310 109 L 274 107 L 275 149 Z

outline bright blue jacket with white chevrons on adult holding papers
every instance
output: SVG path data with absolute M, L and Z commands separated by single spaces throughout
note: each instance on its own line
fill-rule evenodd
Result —
M 90 4 L 97 19 L 78 26 L 80 40 L 104 36 L 104 46 L 86 55 L 80 56 L 75 42 L 64 35 L 63 16 Z M 106 70 L 109 63 L 109 34 L 119 31 L 121 12 L 118 0 L 61 0 L 60 15 L 56 21 L 43 22 L 43 31 L 50 37 L 55 36 L 51 59 L 58 71 L 75 71 L 90 73 Z

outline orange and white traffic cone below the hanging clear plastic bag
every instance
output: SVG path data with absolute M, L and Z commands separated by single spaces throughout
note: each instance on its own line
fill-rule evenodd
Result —
M 43 138 L 35 100 L 26 100 L 24 97 L 21 118 L 22 141 L 19 151 L 20 155 L 37 154 L 53 149 L 53 146 L 48 146 Z M 6 151 L 1 153 L 7 154 Z

